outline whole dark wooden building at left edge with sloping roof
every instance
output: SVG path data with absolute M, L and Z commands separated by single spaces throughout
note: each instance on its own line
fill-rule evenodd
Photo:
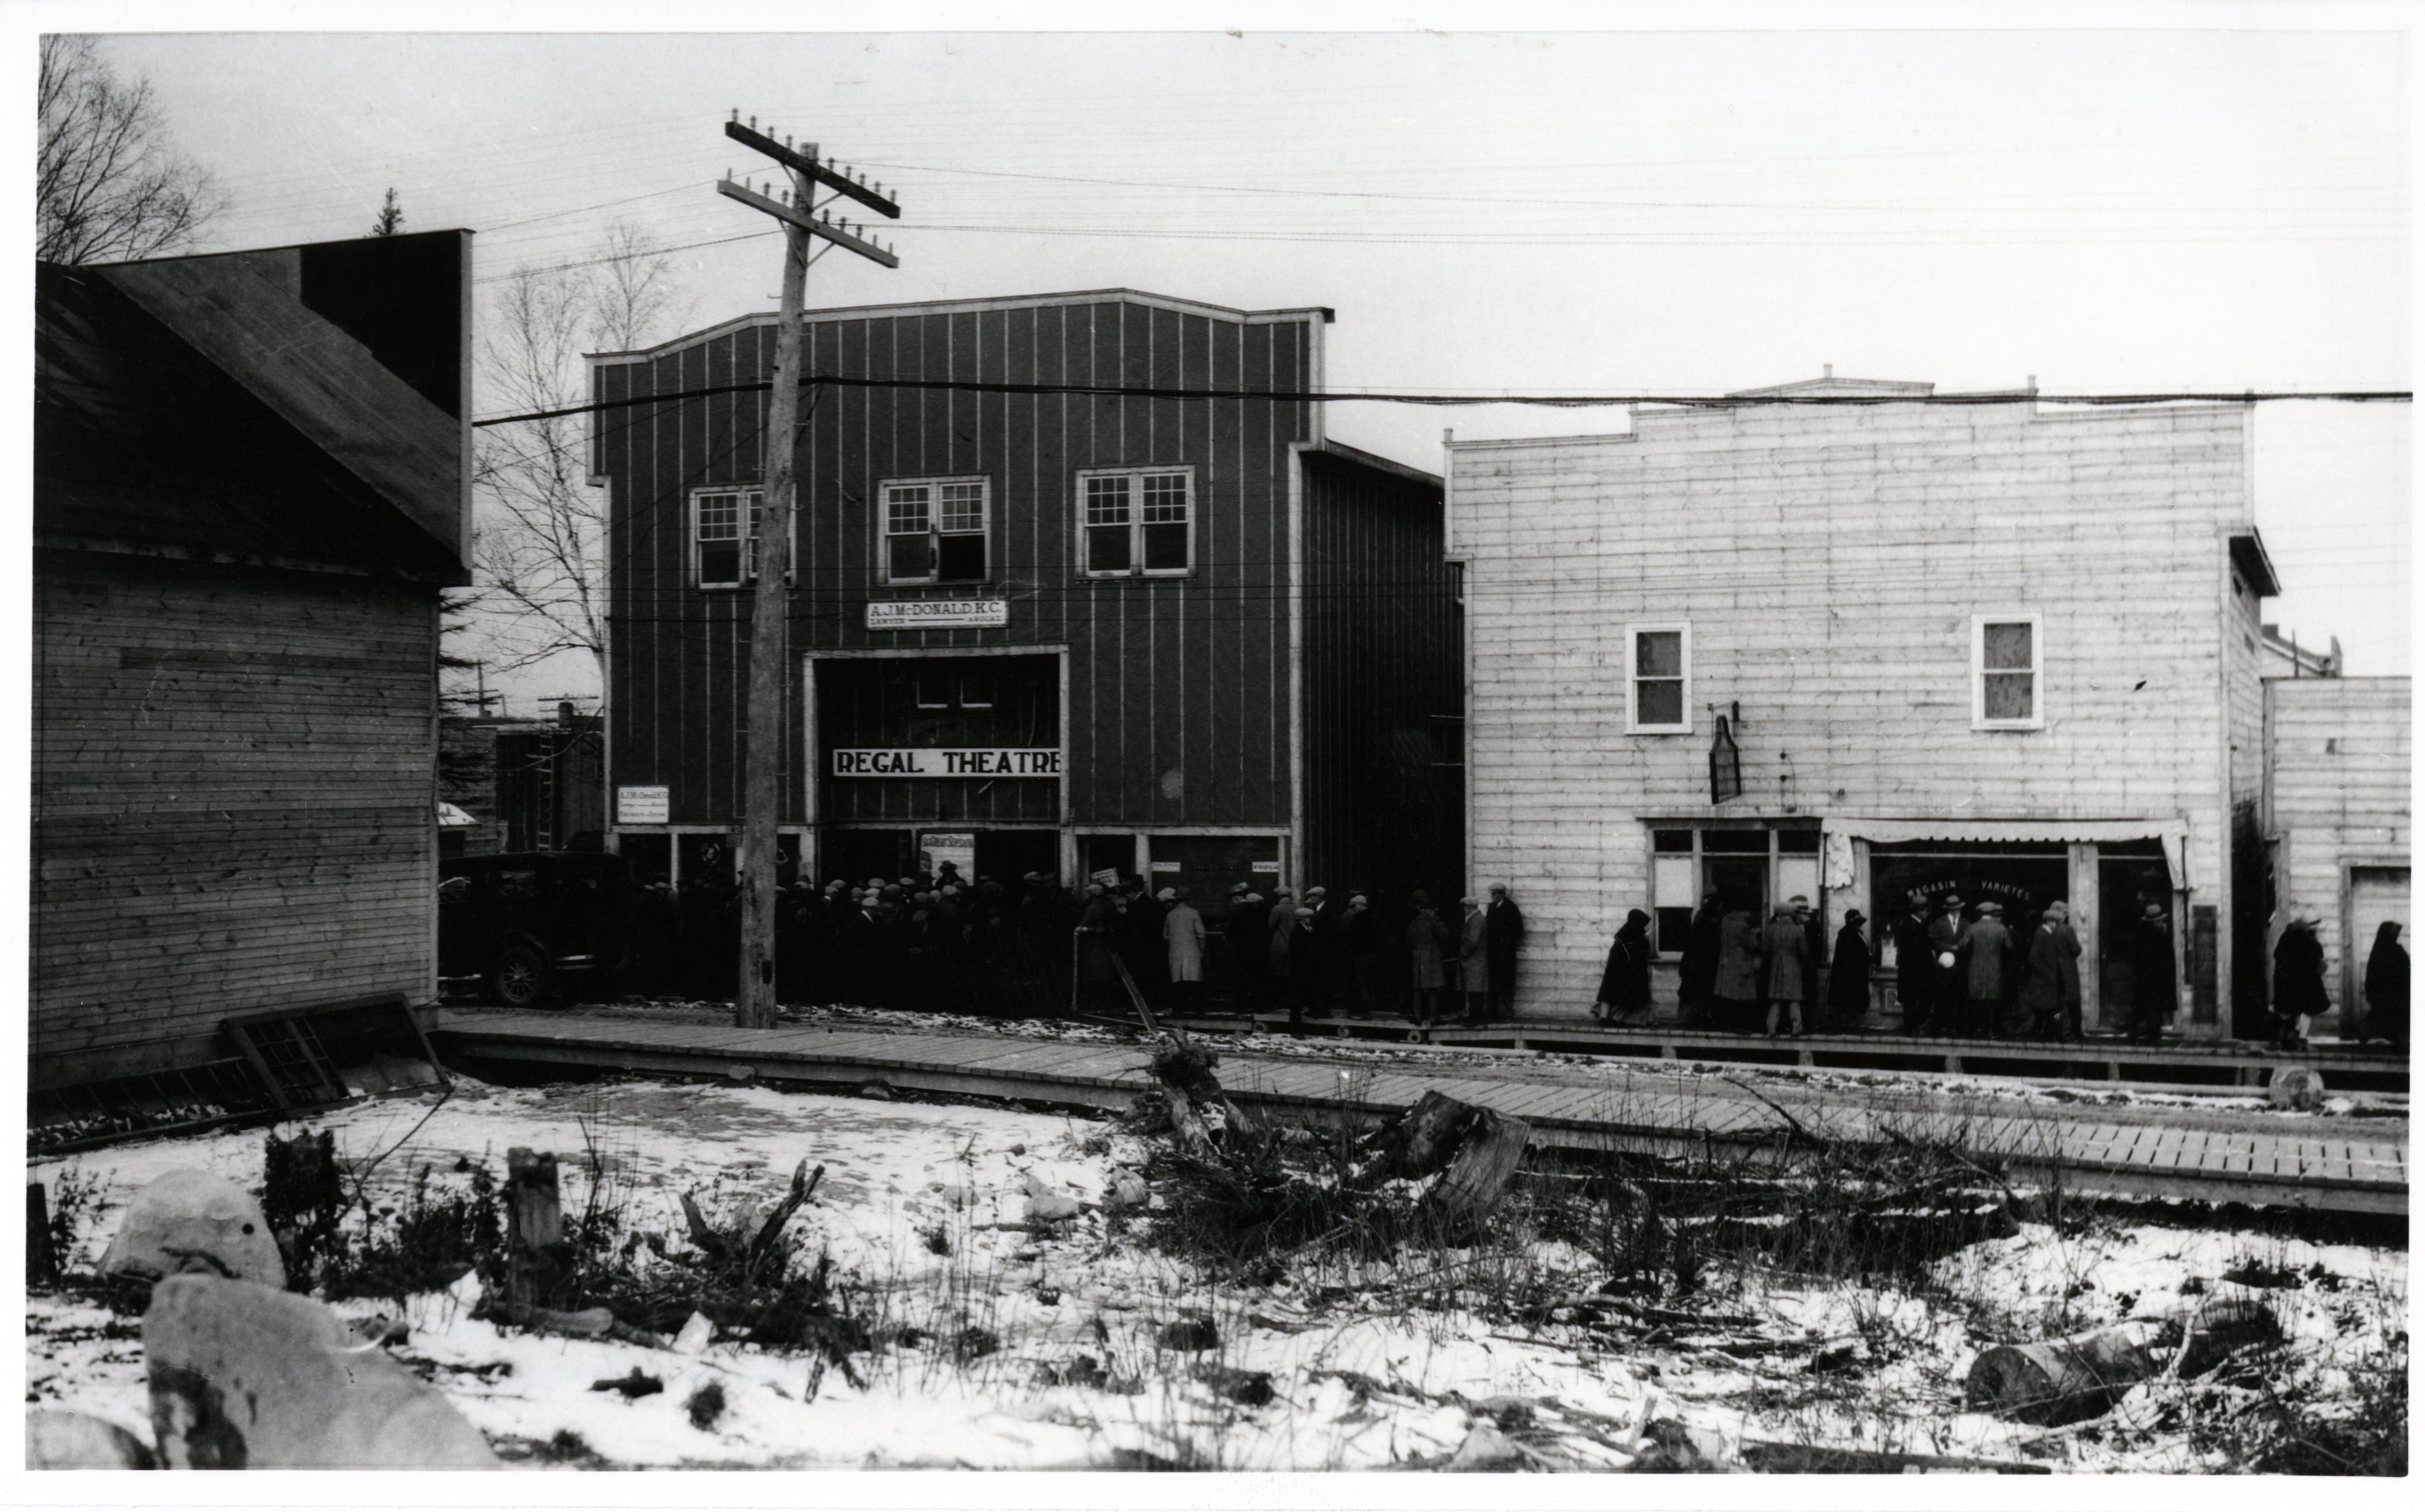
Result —
M 32 1083 L 434 984 L 470 233 L 36 271 Z

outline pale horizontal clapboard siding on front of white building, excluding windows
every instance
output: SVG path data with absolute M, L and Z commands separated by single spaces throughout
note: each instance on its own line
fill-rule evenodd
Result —
M 2185 817 L 2197 901 L 2224 901 L 2238 407 L 1637 426 L 1450 446 L 1470 855 L 1525 909 L 1523 1008 L 1593 1001 L 1608 935 L 1649 906 L 1644 814 Z M 2042 615 L 2044 729 L 1972 729 L 1972 615 L 2003 611 Z M 1693 734 L 1627 734 L 1625 628 L 1673 620 Z M 1707 705 L 1741 708 L 1724 807 Z

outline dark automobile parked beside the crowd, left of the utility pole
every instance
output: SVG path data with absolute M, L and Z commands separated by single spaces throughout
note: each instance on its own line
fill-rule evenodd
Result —
M 524 850 L 439 860 L 439 976 L 509 1008 L 611 991 L 630 960 L 621 855 Z

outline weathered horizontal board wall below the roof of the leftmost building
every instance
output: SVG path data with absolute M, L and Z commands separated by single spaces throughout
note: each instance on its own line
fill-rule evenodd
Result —
M 432 986 L 429 589 L 41 552 L 36 1081 Z

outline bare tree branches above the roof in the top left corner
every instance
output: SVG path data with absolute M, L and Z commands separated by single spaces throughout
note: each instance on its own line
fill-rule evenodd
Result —
M 90 36 L 44 36 L 36 80 L 34 257 L 116 262 L 192 247 L 228 208 L 170 145 L 150 80 L 121 80 Z

